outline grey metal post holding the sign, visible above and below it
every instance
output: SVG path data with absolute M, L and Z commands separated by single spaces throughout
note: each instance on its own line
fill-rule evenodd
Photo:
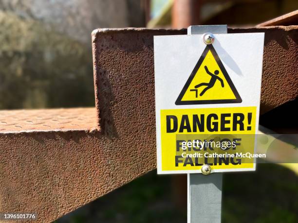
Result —
M 187 34 L 226 34 L 226 25 L 189 26 Z M 187 174 L 187 222 L 220 223 L 223 173 Z

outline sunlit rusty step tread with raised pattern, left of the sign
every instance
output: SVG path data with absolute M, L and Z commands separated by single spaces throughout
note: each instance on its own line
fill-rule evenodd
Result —
M 95 126 L 95 108 L 0 110 L 0 134 L 90 131 Z

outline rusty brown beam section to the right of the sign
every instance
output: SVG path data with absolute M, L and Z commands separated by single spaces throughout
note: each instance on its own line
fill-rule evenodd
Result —
M 228 29 L 228 33 L 249 32 L 265 33 L 260 107 L 263 114 L 298 96 L 298 26 Z

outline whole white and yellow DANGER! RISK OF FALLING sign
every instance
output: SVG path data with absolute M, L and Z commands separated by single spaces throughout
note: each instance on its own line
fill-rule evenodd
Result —
M 255 170 L 263 40 L 154 36 L 158 173 Z

